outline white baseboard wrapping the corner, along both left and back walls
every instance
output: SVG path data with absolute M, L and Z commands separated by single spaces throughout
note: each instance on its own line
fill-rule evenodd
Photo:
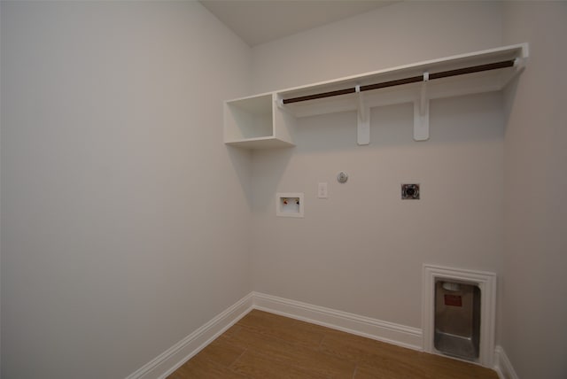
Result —
M 252 309 L 281 314 L 293 319 L 311 322 L 331 329 L 338 329 L 358 336 L 397 344 L 414 350 L 422 350 L 422 330 L 392 322 L 380 321 L 353 313 L 336 311 L 322 306 L 277 298 L 259 292 L 251 292 L 235 305 L 208 321 L 173 345 L 166 352 L 140 367 L 126 379 L 163 379 L 181 367 L 202 349 L 221 336 Z

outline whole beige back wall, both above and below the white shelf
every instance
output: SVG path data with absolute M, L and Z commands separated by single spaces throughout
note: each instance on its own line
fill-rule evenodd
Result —
M 252 49 L 255 89 L 501 45 L 501 4 L 380 11 Z M 372 109 L 369 146 L 344 112 L 301 119 L 294 149 L 254 151 L 254 289 L 420 328 L 423 263 L 500 274 L 501 100 L 431 101 L 427 142 L 412 139 L 413 105 L 398 104 Z M 329 198 L 316 197 L 318 182 Z M 421 199 L 402 201 L 401 183 L 420 183 Z M 276 192 L 304 192 L 305 218 L 276 217 Z

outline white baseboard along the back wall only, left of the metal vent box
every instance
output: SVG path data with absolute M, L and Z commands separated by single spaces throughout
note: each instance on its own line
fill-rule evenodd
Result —
M 358 314 L 337 311 L 322 306 L 278 298 L 259 292 L 252 292 L 253 308 L 281 314 L 293 319 L 311 322 L 331 329 L 338 329 L 358 336 L 396 344 L 409 349 L 422 350 L 422 330 L 371 319 Z

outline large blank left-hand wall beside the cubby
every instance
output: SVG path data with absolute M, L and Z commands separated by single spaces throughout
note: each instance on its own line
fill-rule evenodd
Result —
M 2 375 L 118 378 L 252 290 L 250 50 L 197 2 L 2 2 Z

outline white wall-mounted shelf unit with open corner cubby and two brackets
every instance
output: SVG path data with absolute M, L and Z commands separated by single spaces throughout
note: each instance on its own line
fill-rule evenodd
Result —
M 355 111 L 357 143 L 369 144 L 369 108 L 401 103 L 414 103 L 414 139 L 425 141 L 431 99 L 499 91 L 524 70 L 527 58 L 528 45 L 521 43 L 230 100 L 224 142 L 246 149 L 291 147 L 297 118 Z M 507 65 L 468 70 L 494 63 Z M 326 95 L 333 91 L 346 93 Z

